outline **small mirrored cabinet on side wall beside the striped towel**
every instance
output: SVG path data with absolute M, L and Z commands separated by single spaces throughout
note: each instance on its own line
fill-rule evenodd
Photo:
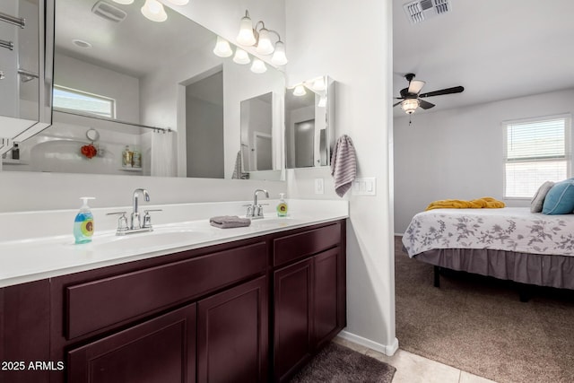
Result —
M 288 169 L 328 166 L 335 135 L 335 82 L 321 76 L 285 93 L 285 158 Z

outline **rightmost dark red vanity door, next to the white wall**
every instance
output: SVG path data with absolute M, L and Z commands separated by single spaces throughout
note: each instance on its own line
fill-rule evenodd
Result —
M 344 280 L 340 248 L 332 248 L 313 257 L 313 333 L 315 346 L 321 347 L 344 327 L 340 313 L 345 310 L 341 300 Z M 344 276 L 344 274 L 343 274 Z M 344 294 L 344 292 L 343 292 Z

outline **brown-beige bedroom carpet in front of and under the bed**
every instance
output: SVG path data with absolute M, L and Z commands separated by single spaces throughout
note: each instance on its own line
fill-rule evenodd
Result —
M 402 349 L 500 383 L 574 382 L 574 292 L 536 288 L 411 259 L 396 237 L 396 337 Z

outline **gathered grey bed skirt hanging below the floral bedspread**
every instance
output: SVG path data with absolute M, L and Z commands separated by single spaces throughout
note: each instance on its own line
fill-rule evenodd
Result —
M 457 271 L 574 290 L 574 257 L 476 248 L 439 248 L 414 258 Z

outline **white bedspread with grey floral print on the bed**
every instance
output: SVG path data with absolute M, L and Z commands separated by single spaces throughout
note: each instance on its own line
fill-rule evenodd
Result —
M 404 232 L 409 257 L 434 248 L 491 248 L 574 256 L 574 214 L 529 208 L 437 209 L 417 213 Z

